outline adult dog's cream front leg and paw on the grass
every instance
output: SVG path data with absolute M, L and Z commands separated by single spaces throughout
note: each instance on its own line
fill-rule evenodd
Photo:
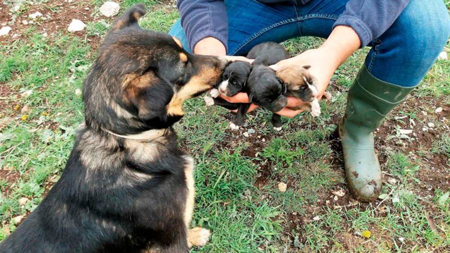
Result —
M 192 219 L 192 213 L 194 208 L 195 201 L 195 185 L 193 179 L 193 160 L 191 157 L 186 156 L 186 165 L 184 167 L 184 175 L 186 178 L 186 186 L 187 186 L 187 197 L 186 197 L 186 205 L 184 206 L 184 222 L 187 229 L 187 246 L 190 248 L 192 246 L 203 246 L 208 242 L 209 232 L 208 229 L 201 227 L 189 228 L 190 220 Z

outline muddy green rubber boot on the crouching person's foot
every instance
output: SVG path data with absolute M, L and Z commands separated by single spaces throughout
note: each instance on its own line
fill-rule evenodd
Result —
M 381 81 L 370 74 L 364 64 L 348 90 L 339 136 L 348 187 L 360 201 L 373 201 L 381 192 L 381 170 L 372 131 L 413 88 Z

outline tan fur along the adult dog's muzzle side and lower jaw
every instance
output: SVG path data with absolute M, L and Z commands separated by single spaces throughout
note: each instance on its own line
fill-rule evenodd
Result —
M 192 76 L 170 99 L 167 104 L 167 114 L 182 116 L 184 114 L 183 101 L 191 98 L 194 94 L 210 89 L 217 82 L 219 76 L 220 72 L 215 69 L 202 70 Z

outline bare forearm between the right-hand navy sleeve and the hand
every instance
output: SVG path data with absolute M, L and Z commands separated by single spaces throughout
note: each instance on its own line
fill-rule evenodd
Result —
M 330 63 L 337 68 L 361 45 L 358 34 L 349 26 L 338 25 L 320 46 L 329 53 Z

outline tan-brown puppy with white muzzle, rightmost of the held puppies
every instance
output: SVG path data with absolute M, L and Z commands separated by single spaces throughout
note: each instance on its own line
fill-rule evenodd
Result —
M 302 67 L 297 65 L 284 66 L 276 71 L 276 77 L 286 85 L 286 96 L 294 96 L 304 101 L 302 105 L 291 109 L 307 110 L 311 113 L 311 116 L 316 117 L 320 115 L 320 106 L 316 98 L 318 91 L 315 86 L 315 77 L 307 71 L 309 67 L 309 65 Z M 325 96 L 328 96 L 328 94 L 325 94 Z

